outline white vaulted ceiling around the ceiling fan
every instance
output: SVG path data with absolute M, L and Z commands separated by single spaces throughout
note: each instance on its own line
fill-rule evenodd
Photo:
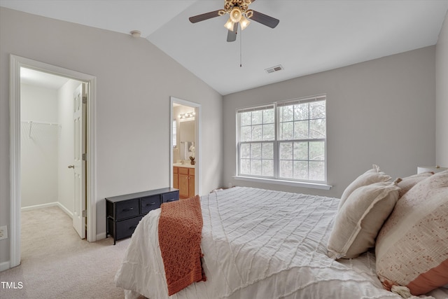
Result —
M 48 18 L 123 34 L 139 30 L 221 95 L 435 45 L 448 11 L 448 0 L 256 0 L 251 9 L 279 19 L 279 25 L 252 21 L 228 43 L 227 17 L 188 21 L 223 3 L 0 0 L 0 6 Z M 278 64 L 282 71 L 267 74 Z

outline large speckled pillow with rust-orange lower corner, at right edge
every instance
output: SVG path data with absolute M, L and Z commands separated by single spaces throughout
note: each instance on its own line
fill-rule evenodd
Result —
M 448 171 L 412 187 L 381 228 L 377 274 L 384 288 L 421 295 L 448 284 Z

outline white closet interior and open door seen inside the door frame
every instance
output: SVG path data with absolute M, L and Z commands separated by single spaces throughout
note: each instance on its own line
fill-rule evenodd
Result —
M 87 89 L 81 81 L 20 68 L 21 210 L 57 206 L 81 239 Z

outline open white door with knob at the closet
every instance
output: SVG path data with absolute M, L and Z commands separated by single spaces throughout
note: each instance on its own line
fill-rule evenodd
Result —
M 86 83 L 82 83 L 73 92 L 73 137 L 74 137 L 74 162 L 69 165 L 73 168 L 74 179 L 74 205 L 73 228 L 81 239 L 85 238 L 85 107 L 87 106 Z M 84 101 L 83 101 L 84 98 Z

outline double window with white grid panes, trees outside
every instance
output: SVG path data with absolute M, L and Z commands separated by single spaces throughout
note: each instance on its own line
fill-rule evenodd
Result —
M 237 111 L 238 175 L 326 181 L 325 95 Z

